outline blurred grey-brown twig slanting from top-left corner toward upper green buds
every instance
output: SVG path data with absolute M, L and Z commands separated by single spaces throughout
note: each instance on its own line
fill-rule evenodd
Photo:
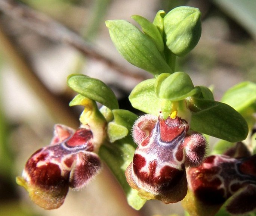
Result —
M 142 81 L 145 79 L 142 75 L 129 71 L 117 62 L 114 62 L 107 56 L 102 55 L 95 47 L 83 40 L 78 34 L 66 28 L 59 22 L 54 21 L 43 13 L 37 12 L 23 4 L 12 0 L 0 0 L 0 10 L 6 15 L 21 22 L 38 34 L 74 47 L 87 57 L 99 60 L 108 67 L 121 73 L 122 75 L 133 77 Z

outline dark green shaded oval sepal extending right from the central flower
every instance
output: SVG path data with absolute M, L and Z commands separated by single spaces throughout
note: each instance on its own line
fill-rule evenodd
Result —
M 246 120 L 225 103 L 198 98 L 186 98 L 192 111 L 191 128 L 229 142 L 245 140 L 248 134 Z

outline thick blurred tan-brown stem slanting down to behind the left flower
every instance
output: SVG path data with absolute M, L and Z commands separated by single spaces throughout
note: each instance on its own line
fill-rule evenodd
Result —
M 53 94 L 43 84 L 40 78 L 36 75 L 33 66 L 27 59 L 25 59 L 24 55 L 19 51 L 12 40 L 10 40 L 4 31 L 1 22 L 0 41 L 1 51 L 4 53 L 6 59 L 16 68 L 21 75 L 20 77 L 27 82 L 28 86 L 33 88 L 33 92 L 44 102 L 47 110 L 52 114 L 52 117 L 59 123 L 76 128 L 79 123 L 78 120 L 76 120 L 77 118 L 75 118 L 72 109 L 67 106 L 68 102 L 65 103 L 59 96 Z

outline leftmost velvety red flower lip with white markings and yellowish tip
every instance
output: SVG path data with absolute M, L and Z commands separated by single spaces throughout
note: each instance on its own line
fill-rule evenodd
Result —
M 55 125 L 50 145 L 28 159 L 22 177 L 16 181 L 38 206 L 56 209 L 63 204 L 69 187 L 84 187 L 101 169 L 99 156 L 93 150 L 89 126 L 74 131 Z

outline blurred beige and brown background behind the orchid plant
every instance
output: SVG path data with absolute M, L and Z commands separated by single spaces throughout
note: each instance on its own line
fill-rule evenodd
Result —
M 57 210 L 40 209 L 15 183 L 28 157 L 49 144 L 55 123 L 79 125 L 80 107 L 68 106 L 75 95 L 69 74 L 101 79 L 129 110 L 132 88 L 152 77 L 122 59 L 104 21 L 153 21 L 158 10 L 183 5 L 200 9 L 202 35 L 178 59 L 178 71 L 212 86 L 216 100 L 238 82 L 256 82 L 255 0 L 0 0 L 0 216 L 184 215 L 180 203 L 154 200 L 131 209 L 107 167 L 85 189 L 70 190 Z

